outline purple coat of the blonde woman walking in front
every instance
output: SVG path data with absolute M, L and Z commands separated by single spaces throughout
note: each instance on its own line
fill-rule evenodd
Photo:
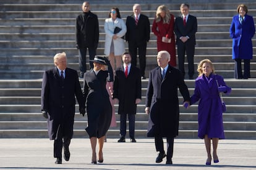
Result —
M 209 138 L 224 139 L 222 102 L 218 86 L 226 86 L 222 76 L 210 75 L 210 82 L 207 83 L 204 76 L 195 80 L 195 91 L 190 99 L 190 105 L 200 100 L 198 104 L 198 137 L 203 139 L 207 134 Z M 216 82 L 218 81 L 218 84 Z M 226 86 L 227 92 L 231 88 Z

